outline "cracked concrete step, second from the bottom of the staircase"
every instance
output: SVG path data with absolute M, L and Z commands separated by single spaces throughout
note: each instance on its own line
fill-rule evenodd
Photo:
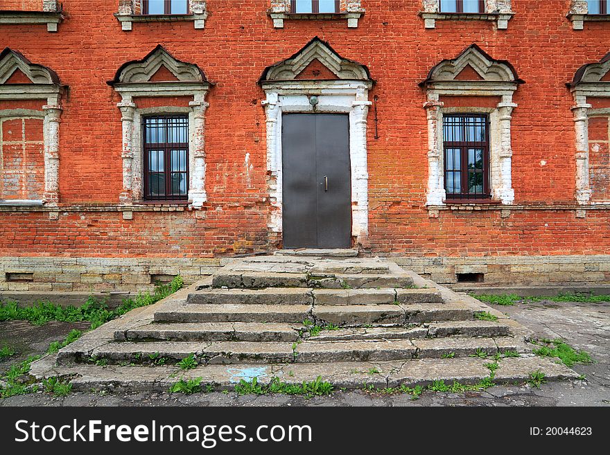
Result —
M 504 340 L 503 350 L 523 351 L 523 342 Z M 468 357 L 491 356 L 498 352 L 498 344 L 492 338 L 462 339 L 394 339 L 370 341 L 315 341 L 300 344 L 290 342 L 251 341 L 123 341 L 94 348 L 91 353 L 61 353 L 58 362 L 87 359 L 106 359 L 109 362 L 147 362 L 148 359 L 165 357 L 180 360 L 195 354 L 200 363 L 319 363 L 319 362 L 369 362 L 442 358 L 444 355 Z

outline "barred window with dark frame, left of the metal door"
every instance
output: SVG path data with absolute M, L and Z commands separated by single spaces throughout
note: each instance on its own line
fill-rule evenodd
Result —
M 189 118 L 144 118 L 144 198 L 188 199 Z

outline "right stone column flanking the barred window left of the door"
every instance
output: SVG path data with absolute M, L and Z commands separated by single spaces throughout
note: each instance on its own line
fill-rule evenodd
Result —
M 195 96 L 195 100 L 189 102 L 189 106 L 193 110 L 193 133 L 195 135 L 193 150 L 195 163 L 191 176 L 189 200 L 193 204 L 193 208 L 202 208 L 203 203 L 207 201 L 205 192 L 205 111 L 209 104 L 203 100 L 202 96 Z

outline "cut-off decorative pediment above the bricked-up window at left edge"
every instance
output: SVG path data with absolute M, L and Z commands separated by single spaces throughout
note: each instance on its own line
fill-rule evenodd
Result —
M 0 53 L 0 84 L 60 84 L 55 71 L 30 62 L 10 48 Z

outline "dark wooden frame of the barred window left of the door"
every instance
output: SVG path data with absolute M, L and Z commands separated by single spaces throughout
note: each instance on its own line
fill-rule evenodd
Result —
M 184 143 L 147 143 L 146 142 L 146 121 L 151 118 L 180 118 L 186 120 L 186 142 Z M 168 138 L 168 123 L 165 123 L 165 138 Z M 154 202 L 175 202 L 175 201 L 186 201 L 189 199 L 189 116 L 187 114 L 157 114 L 144 116 L 142 118 L 142 142 L 143 142 L 143 188 L 144 194 L 143 199 L 146 202 L 154 201 Z M 174 172 L 171 170 L 171 150 L 186 150 L 185 157 L 185 169 L 186 171 L 178 171 Z M 148 158 L 148 152 L 150 150 L 163 150 L 164 151 L 164 170 L 163 174 L 165 176 L 165 193 L 163 195 L 151 195 L 150 188 L 148 184 L 148 176 L 150 175 L 150 163 Z M 155 172 L 156 173 L 156 172 Z M 160 172 L 159 172 L 160 173 Z M 184 195 L 174 195 L 171 190 L 171 175 L 172 174 L 185 174 L 186 177 L 186 193 Z

